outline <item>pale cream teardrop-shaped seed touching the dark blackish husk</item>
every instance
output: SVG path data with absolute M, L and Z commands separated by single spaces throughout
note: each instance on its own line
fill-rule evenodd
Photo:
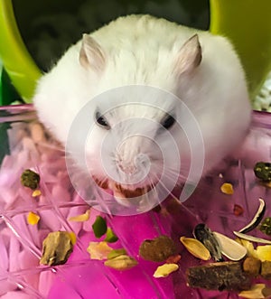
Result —
M 220 243 L 222 254 L 230 260 L 240 260 L 247 255 L 247 248 L 244 248 L 232 238 L 226 237 L 215 231 L 213 232 L 213 235 Z

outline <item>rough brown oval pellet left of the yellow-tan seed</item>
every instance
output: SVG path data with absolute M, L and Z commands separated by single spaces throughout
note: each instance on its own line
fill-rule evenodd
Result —
M 146 260 L 164 262 L 168 257 L 176 253 L 176 246 L 172 238 L 160 236 L 154 239 L 146 239 L 139 248 L 139 255 Z

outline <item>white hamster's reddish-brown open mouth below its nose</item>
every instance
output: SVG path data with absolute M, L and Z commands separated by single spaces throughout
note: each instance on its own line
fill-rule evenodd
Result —
M 118 199 L 133 199 L 145 195 L 147 192 L 150 192 L 156 185 L 145 185 L 144 187 L 135 187 L 134 189 L 129 189 L 121 185 L 120 183 L 109 181 L 109 180 L 98 180 L 94 177 L 94 181 L 102 189 L 110 189 L 114 192 L 114 196 Z

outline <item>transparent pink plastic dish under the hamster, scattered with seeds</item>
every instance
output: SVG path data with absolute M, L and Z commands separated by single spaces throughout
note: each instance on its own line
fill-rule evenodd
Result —
M 91 225 L 101 212 L 91 210 L 85 222 L 71 222 L 70 216 L 89 209 L 73 190 L 66 171 L 65 153 L 48 140 L 37 125 L 32 106 L 0 109 L 0 296 L 1 298 L 238 298 L 238 294 L 192 289 L 186 284 L 188 266 L 202 262 L 182 247 L 181 236 L 192 237 L 193 227 L 206 223 L 210 229 L 234 238 L 233 230 L 246 225 L 257 210 L 258 198 L 266 201 L 266 217 L 271 216 L 270 190 L 261 185 L 253 172 L 258 161 L 271 161 L 271 116 L 255 112 L 249 135 L 227 167 L 202 180 L 183 205 L 163 202 L 161 210 L 135 216 L 103 214 L 117 237 L 114 248 L 126 248 L 138 265 L 126 271 L 104 266 L 89 258 L 87 247 L 95 238 Z M 229 135 L 225 136 L 229 138 Z M 41 174 L 42 195 L 20 183 L 24 169 Z M 222 175 L 221 175 L 222 174 Z M 223 182 L 233 185 L 232 195 L 223 194 Z M 244 212 L 237 216 L 235 205 Z M 37 225 L 27 223 L 29 211 L 38 213 Z M 61 266 L 40 266 L 42 240 L 55 230 L 74 231 L 77 242 L 68 262 Z M 161 263 L 145 261 L 138 248 L 146 238 L 171 236 L 182 256 L 179 270 L 166 278 L 154 278 Z M 257 229 L 254 235 L 268 238 Z M 268 282 L 265 282 L 268 285 Z M 269 283 L 271 285 L 271 283 Z

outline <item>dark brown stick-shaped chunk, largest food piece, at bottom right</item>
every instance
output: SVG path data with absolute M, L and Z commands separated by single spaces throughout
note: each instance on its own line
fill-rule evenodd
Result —
M 192 266 L 186 270 L 186 277 L 189 286 L 207 290 L 242 291 L 248 290 L 251 285 L 250 277 L 239 262 Z

